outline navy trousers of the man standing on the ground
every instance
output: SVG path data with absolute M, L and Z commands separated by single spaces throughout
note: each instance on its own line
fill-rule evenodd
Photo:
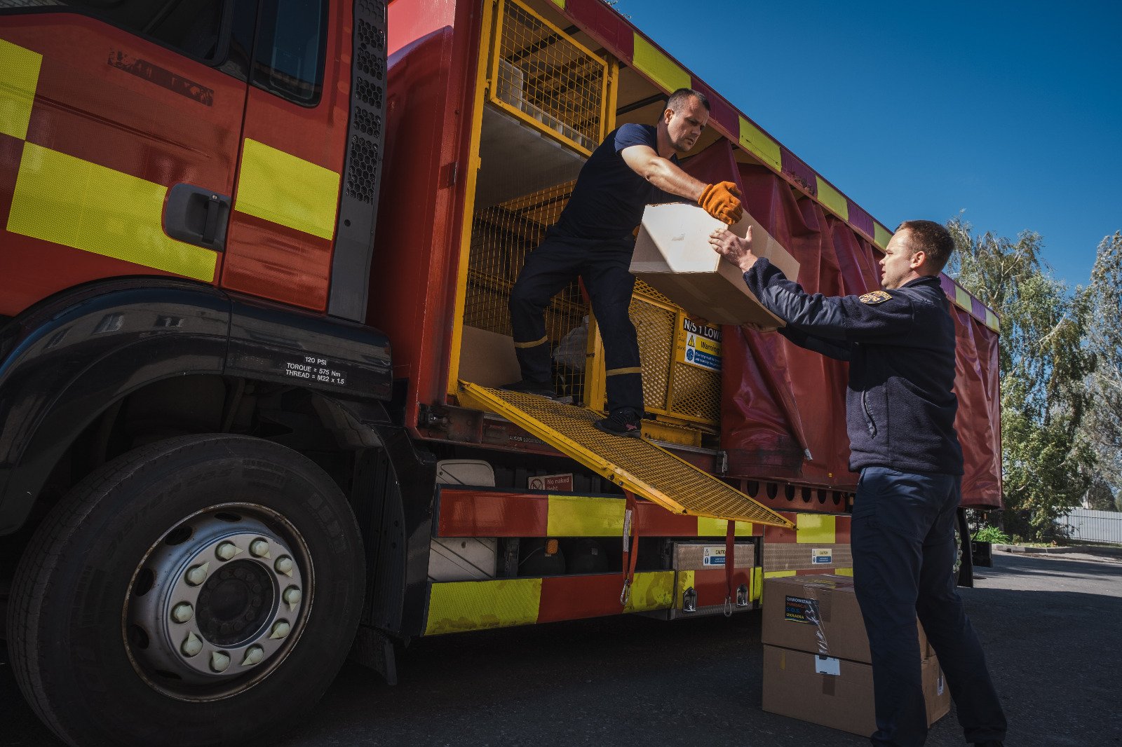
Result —
M 1005 716 L 954 578 L 962 478 L 861 471 L 853 575 L 873 655 L 874 745 L 922 745 L 927 711 L 916 616 L 939 657 L 966 741 L 1004 739 Z

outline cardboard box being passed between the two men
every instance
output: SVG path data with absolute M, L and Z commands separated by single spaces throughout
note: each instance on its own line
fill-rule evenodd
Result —
M 756 256 L 766 257 L 789 278 L 797 279 L 799 262 L 754 218 L 744 213 L 729 230 L 744 237 L 749 225 Z M 782 326 L 783 322 L 748 290 L 741 268 L 723 259 L 709 245 L 709 234 L 724 227 L 696 205 L 647 205 L 635 241 L 632 275 L 707 321 Z

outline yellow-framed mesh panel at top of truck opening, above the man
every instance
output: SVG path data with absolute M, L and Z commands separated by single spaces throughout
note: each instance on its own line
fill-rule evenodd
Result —
M 499 13 L 493 100 L 591 153 L 604 137 L 607 63 L 517 0 Z

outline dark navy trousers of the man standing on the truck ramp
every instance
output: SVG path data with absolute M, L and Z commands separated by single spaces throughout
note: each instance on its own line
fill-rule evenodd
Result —
M 526 257 L 511 290 L 511 326 L 522 378 L 552 381 L 545 307 L 580 276 L 592 301 L 604 339 L 608 412 L 623 407 L 643 415 L 643 377 L 635 325 L 627 315 L 635 276 L 629 271 L 634 241 L 548 236 Z

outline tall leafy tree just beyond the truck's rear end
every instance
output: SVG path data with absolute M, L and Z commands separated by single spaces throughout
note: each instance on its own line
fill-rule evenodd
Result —
M 947 228 L 958 250 L 948 271 L 1001 319 L 1004 529 L 1054 540 L 1055 518 L 1079 504 L 1094 467 L 1080 437 L 1093 365 L 1083 306 L 1041 260 L 1040 234 L 975 234 L 960 219 Z

